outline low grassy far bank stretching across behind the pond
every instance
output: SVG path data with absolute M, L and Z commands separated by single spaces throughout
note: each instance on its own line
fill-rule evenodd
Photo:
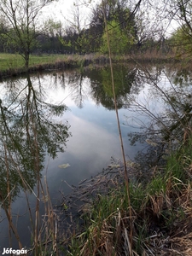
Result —
M 168 62 L 173 61 L 171 55 L 145 52 L 135 55 L 115 55 L 114 62 L 119 61 L 148 61 Z M 49 69 L 65 69 L 68 67 L 83 67 L 90 64 L 106 64 L 108 56 L 99 54 L 90 55 L 30 55 L 29 72 L 43 71 Z M 26 73 L 24 60 L 19 54 L 0 54 L 0 79 Z

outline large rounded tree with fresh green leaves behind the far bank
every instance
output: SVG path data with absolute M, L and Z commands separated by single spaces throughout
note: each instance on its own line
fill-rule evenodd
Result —
M 102 4 L 97 4 L 93 9 L 90 28 L 94 27 L 98 35 L 96 42 L 101 42 L 100 50 L 108 52 L 106 29 L 108 29 L 111 49 L 113 53 L 125 53 L 137 38 L 137 26 L 135 15 L 128 8 L 127 0 L 105 1 L 104 13 L 108 27 L 104 26 L 104 14 Z M 99 38 L 100 37 L 100 38 Z

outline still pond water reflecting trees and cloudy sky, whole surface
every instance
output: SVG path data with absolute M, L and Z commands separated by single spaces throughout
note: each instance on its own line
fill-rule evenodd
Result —
M 154 165 L 159 160 L 162 139 L 183 136 L 177 119 L 183 117 L 183 124 L 190 121 L 190 73 L 169 67 L 117 66 L 114 82 L 126 159 L 143 162 L 149 169 L 151 160 Z M 32 214 L 37 197 L 44 214 L 37 179 L 41 176 L 44 183 L 46 176 L 55 205 L 61 193 L 72 192 L 71 185 L 102 172 L 111 158 L 121 159 L 121 148 L 109 67 L 31 75 L 3 81 L 0 86 L 3 252 L 3 247 L 10 247 L 10 234 L 12 247 L 19 248 L 9 232 L 10 201 L 20 241 L 30 247 L 26 194 Z

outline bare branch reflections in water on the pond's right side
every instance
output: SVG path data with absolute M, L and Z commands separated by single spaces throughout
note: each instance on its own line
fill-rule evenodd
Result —
M 137 96 L 130 98 L 130 110 L 140 131 L 128 134 L 131 145 L 146 143 L 146 148 L 135 156 L 143 172 L 154 172 L 155 166 L 165 163 L 166 155 L 191 133 L 191 78 L 186 70 L 167 66 L 149 73 L 143 67 L 148 86 L 142 100 Z

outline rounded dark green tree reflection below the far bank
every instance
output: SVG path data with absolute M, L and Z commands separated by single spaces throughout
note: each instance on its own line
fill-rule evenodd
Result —
M 102 104 L 109 110 L 114 109 L 113 91 L 111 86 L 110 68 L 89 70 L 91 96 L 96 104 Z M 136 85 L 137 68 L 116 66 L 113 70 L 117 107 L 124 108 L 129 102 L 129 93 L 133 84 Z

